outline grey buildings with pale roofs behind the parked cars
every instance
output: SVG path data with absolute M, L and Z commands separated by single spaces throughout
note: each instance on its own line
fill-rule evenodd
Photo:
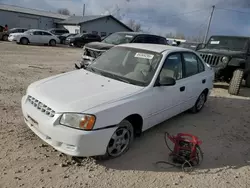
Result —
M 0 4 L 0 25 L 28 29 L 66 28 L 70 33 L 89 32 L 106 36 L 118 31 L 132 31 L 111 15 L 65 16 L 53 12 Z

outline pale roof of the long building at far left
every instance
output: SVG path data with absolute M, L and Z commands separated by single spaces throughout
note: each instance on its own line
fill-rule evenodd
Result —
M 44 10 L 30 9 L 30 8 L 15 6 L 15 5 L 6 5 L 6 4 L 0 4 L 0 10 L 10 11 L 10 12 L 19 12 L 19 13 L 24 13 L 24 14 L 32 14 L 32 15 L 37 15 L 37 16 L 57 18 L 57 19 L 63 19 L 63 20 L 69 17 L 69 16 L 65 16 L 62 14 L 54 13 L 54 12 L 48 12 Z

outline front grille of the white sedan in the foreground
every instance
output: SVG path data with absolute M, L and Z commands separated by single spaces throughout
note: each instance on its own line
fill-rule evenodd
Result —
M 28 96 L 28 102 L 34 106 L 36 109 L 41 111 L 42 113 L 46 114 L 49 117 L 54 117 L 55 116 L 55 111 L 49 108 L 47 105 L 43 104 L 41 101 L 35 99 L 32 96 Z

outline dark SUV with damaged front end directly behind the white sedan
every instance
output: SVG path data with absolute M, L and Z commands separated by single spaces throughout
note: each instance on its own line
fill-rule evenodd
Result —
M 137 32 L 116 32 L 107 36 L 101 42 L 91 42 L 86 44 L 83 48 L 81 62 L 79 64 L 75 64 L 75 68 L 86 68 L 86 66 L 88 66 L 103 52 L 109 50 L 115 45 L 124 43 L 168 44 L 166 38 L 157 35 Z

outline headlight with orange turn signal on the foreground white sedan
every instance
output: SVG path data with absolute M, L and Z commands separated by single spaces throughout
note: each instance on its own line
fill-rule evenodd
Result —
M 95 116 L 87 114 L 65 113 L 60 119 L 60 124 L 82 130 L 92 130 Z

